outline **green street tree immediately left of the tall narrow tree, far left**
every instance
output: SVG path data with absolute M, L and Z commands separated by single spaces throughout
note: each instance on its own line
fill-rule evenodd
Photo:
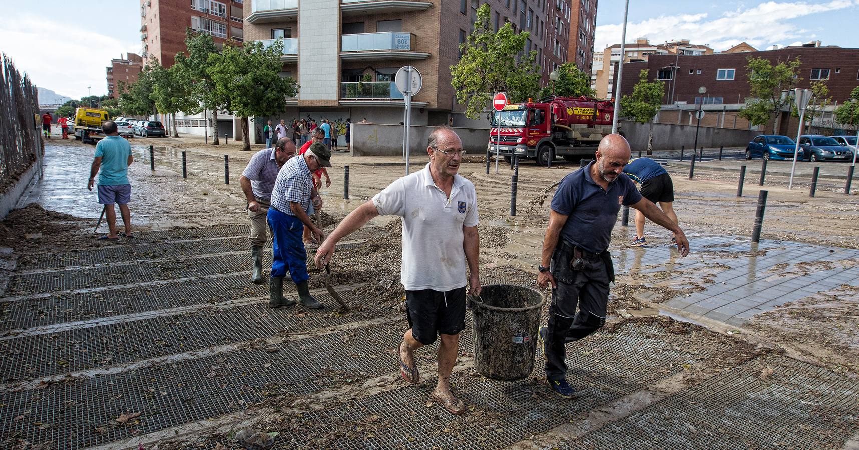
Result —
M 192 93 L 192 83 L 186 78 L 187 71 L 174 64 L 164 69 L 157 61 L 152 65 L 152 93 L 149 98 L 155 102 L 155 109 L 170 115 L 173 119 L 173 137 L 179 137 L 176 130 L 176 113 L 188 112 L 198 108 L 199 103 Z

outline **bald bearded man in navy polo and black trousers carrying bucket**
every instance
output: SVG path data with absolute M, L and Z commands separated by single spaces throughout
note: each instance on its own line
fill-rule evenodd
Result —
M 539 337 L 546 380 L 561 398 L 572 398 L 575 392 L 564 377 L 565 344 L 585 338 L 606 324 L 608 283 L 614 282 L 612 258 L 606 249 L 620 207 L 641 211 L 650 221 L 672 231 L 680 254 L 689 253 L 683 230 L 642 198 L 623 173 L 629 161 L 626 139 L 616 134 L 603 137 L 596 161 L 564 177 L 551 200 L 537 276 L 541 288 L 551 284 L 551 307 L 549 324 L 540 329 Z

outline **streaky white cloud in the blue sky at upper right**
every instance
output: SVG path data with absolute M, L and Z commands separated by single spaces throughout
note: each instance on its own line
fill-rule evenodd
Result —
M 838 11 L 859 5 L 859 0 L 832 0 L 828 3 L 760 3 L 744 9 L 722 13 L 709 19 L 707 14 L 661 15 L 646 21 L 630 22 L 626 27 L 626 42 L 645 37 L 652 44 L 689 39 L 693 44 L 704 44 L 716 52 L 747 42 L 765 50 L 783 41 L 811 40 L 808 30 L 798 28 L 789 21 L 818 13 Z M 601 25 L 596 28 L 594 51 L 620 43 L 623 24 Z

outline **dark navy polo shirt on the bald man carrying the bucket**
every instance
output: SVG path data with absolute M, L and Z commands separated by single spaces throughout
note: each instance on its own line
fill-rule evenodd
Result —
M 637 204 L 642 195 L 624 173 L 608 184 L 604 191 L 591 178 L 592 161 L 588 167 L 570 173 L 557 186 L 551 199 L 551 210 L 568 216 L 561 238 L 585 252 L 601 253 L 612 240 L 612 228 L 618 222 L 621 205 Z

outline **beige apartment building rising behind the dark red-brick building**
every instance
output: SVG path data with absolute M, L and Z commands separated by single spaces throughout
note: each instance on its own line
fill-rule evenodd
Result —
M 638 38 L 634 43 L 624 46 L 623 62 L 633 63 L 647 61 L 650 55 L 673 55 L 701 56 L 711 55 L 713 49 L 710 46 L 690 44 L 689 40 L 675 40 L 665 44 L 654 45 L 646 38 Z M 607 61 L 607 62 L 606 62 Z M 620 44 L 606 47 L 600 57 L 594 57 L 594 66 L 591 69 L 591 88 L 600 99 L 614 98 L 614 73 L 618 70 L 620 63 Z M 626 73 L 624 71 L 624 73 Z M 638 76 L 635 76 L 636 80 Z

